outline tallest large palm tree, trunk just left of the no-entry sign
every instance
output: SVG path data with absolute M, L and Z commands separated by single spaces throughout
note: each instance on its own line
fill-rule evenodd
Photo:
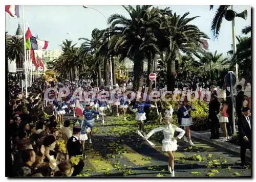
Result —
M 130 19 L 113 14 L 109 17 L 111 29 L 115 34 L 112 36 L 110 46 L 117 52 L 120 49 L 125 50 L 125 57 L 134 62 L 134 73 L 136 75 L 133 83 L 133 89 L 138 90 L 143 86 L 143 61 L 145 58 L 152 63 L 154 55 L 158 51 L 156 45 L 157 39 L 154 37 L 157 28 L 158 9 L 152 6 L 123 6 L 129 13 Z M 160 23 L 158 23 L 159 27 Z M 149 64 L 150 64 L 149 63 Z M 151 66 L 148 67 L 151 71 Z M 152 85 L 148 83 L 148 85 Z

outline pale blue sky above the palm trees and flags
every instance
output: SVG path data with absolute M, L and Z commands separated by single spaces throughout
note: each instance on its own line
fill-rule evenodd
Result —
M 99 10 L 108 18 L 113 13 L 122 14 L 129 17 L 127 12 L 120 6 L 90 6 Z M 201 31 L 206 33 L 211 40 L 209 50 L 218 53 L 224 53 L 230 50 L 232 43 L 231 21 L 223 20 L 219 39 L 212 39 L 210 31 L 211 20 L 215 15 L 214 11 L 209 11 L 209 6 L 159 6 L 160 8 L 170 7 L 177 14 L 190 12 L 189 16 L 200 16 L 193 20 L 193 24 L 197 25 Z M 248 19 L 236 18 L 236 35 L 241 35 L 241 30 L 251 24 L 250 6 L 234 6 L 233 10 L 240 13 L 245 9 L 248 11 Z M 49 41 L 48 50 L 60 49 L 58 46 L 62 40 L 71 39 L 78 45 L 82 42 L 78 41 L 80 37 L 91 38 L 93 29 L 106 28 L 104 17 L 93 9 L 84 9 L 82 6 L 24 6 L 25 19 L 29 24 L 32 35 L 38 35 L 38 38 Z M 20 7 L 20 16 L 22 16 L 22 8 Z M 6 13 L 6 31 L 8 34 L 15 34 L 18 23 L 22 25 L 22 18 L 14 19 Z M 70 33 L 70 34 L 67 34 Z

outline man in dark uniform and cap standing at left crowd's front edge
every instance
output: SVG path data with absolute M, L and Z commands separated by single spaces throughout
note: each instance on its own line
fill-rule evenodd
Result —
M 82 155 L 82 144 L 79 141 L 80 137 L 80 126 L 74 126 L 73 127 L 73 135 L 68 139 L 67 142 L 67 149 L 69 153 L 69 158 L 75 157 L 76 155 Z M 79 163 L 74 166 L 74 172 L 72 176 L 76 176 L 77 174 L 80 174 L 82 172 L 82 169 L 84 167 L 83 160 L 80 160 Z

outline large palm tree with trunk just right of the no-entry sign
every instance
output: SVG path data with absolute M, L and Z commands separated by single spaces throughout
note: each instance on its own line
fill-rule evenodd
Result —
M 181 53 L 188 56 L 203 53 L 200 47 L 201 39 L 208 36 L 201 32 L 196 25 L 188 24 L 196 17 L 187 18 L 189 12 L 182 16 L 176 13 L 166 13 L 162 17 L 161 34 L 157 37 L 160 50 L 164 52 L 167 62 L 167 89 L 175 88 L 175 62 Z

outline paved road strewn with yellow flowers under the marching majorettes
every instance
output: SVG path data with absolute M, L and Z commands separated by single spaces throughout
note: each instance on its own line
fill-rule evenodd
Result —
M 69 118 L 67 114 L 65 118 Z M 138 129 L 132 121 L 134 115 L 123 121 L 122 116 L 105 117 L 105 124 L 95 122 L 93 144 L 86 142 L 87 159 L 83 176 L 170 177 L 167 170 L 167 154 L 161 151 L 161 132 L 152 136 L 157 145 L 152 148 L 135 133 Z M 151 126 L 146 126 L 146 132 Z M 238 153 L 225 151 L 203 141 L 193 139 L 190 147 L 178 141 L 175 152 L 176 177 L 251 176 L 251 169 L 242 169 L 236 162 Z

